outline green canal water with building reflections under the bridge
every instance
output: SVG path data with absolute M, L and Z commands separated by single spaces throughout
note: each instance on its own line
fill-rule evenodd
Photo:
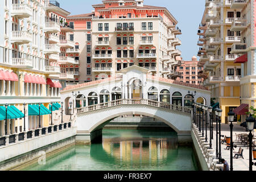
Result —
M 103 130 L 101 144 L 76 145 L 24 171 L 196 171 L 192 146 L 172 131 Z

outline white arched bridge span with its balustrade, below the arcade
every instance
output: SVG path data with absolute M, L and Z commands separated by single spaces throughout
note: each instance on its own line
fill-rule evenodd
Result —
M 181 140 L 191 135 L 191 108 L 167 104 L 147 99 L 121 99 L 77 109 L 77 133 L 85 140 L 94 140 L 100 136 L 101 129 L 112 119 L 121 115 L 146 115 L 154 117 L 172 129 Z M 86 122 L 85 122 L 86 121 Z M 93 134 L 94 133 L 94 134 Z

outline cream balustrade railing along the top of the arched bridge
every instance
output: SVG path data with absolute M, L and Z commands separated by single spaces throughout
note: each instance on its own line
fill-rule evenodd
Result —
M 81 107 L 81 108 L 77 108 L 77 114 L 86 113 L 88 111 L 94 111 L 98 109 L 105 109 L 108 107 L 118 106 L 118 105 L 150 105 L 154 107 L 160 107 L 163 109 L 178 111 L 180 113 L 191 114 L 191 108 L 189 107 L 171 105 L 166 102 L 152 101 L 152 100 L 146 100 L 146 99 L 121 99 L 121 100 L 105 102 L 97 105 Z

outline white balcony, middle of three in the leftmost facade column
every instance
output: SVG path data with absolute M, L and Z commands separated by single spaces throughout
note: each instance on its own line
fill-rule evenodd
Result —
M 12 31 L 11 43 L 28 44 L 32 42 L 32 34 L 27 31 Z

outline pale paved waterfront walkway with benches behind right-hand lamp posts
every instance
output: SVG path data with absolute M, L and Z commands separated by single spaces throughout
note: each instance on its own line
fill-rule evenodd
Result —
M 230 137 L 230 124 L 221 123 L 221 135 L 226 135 L 226 137 Z M 249 134 L 249 131 L 245 130 L 245 127 L 241 127 L 240 125 L 237 125 L 237 123 L 233 123 L 233 142 L 234 146 L 237 145 L 237 148 L 234 148 L 233 150 L 233 171 L 249 171 L 249 147 L 247 145 L 244 145 L 244 143 L 241 144 L 240 140 L 236 140 L 236 133 L 245 133 Z M 207 137 L 209 142 L 209 128 L 207 129 Z M 205 131 L 204 131 L 205 132 Z M 221 137 L 223 139 L 223 137 Z M 243 158 L 234 158 L 234 152 L 238 152 L 239 148 L 243 148 Z M 216 154 L 216 124 L 213 123 L 213 140 L 212 140 L 212 148 L 214 149 L 214 154 Z M 221 144 L 221 157 L 222 159 L 225 159 L 230 167 L 230 150 L 226 149 L 226 143 Z M 253 162 L 256 162 L 253 160 Z M 256 167 L 253 166 L 253 170 L 256 171 Z

